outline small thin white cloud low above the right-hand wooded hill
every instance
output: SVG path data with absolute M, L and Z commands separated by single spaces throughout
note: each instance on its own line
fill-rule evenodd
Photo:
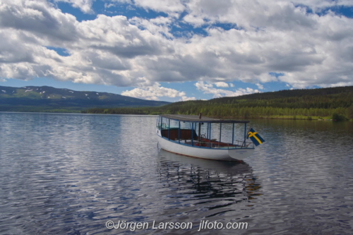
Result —
M 213 98 L 217 97 L 233 97 L 239 95 L 248 95 L 252 93 L 258 93 L 259 90 L 253 90 L 252 88 L 239 88 L 238 90 L 224 90 L 224 89 L 217 89 L 213 88 L 213 84 L 211 83 L 204 83 L 203 81 L 195 83 L 195 86 L 198 90 L 201 90 L 204 94 L 213 94 Z

